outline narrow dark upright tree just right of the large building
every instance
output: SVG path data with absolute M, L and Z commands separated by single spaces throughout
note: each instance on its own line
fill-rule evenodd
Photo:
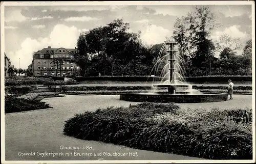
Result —
M 84 34 L 80 34 L 77 40 L 77 50 L 78 53 L 75 55 L 75 61 L 81 69 L 81 75 L 84 76 L 85 72 L 88 75 L 88 67 L 90 61 L 88 56 L 86 36 Z

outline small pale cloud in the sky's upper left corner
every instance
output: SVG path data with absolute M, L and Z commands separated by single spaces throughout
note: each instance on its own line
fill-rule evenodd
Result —
M 27 18 L 22 15 L 21 10 L 8 10 L 5 16 L 6 22 L 18 21 L 22 22 L 27 20 Z

